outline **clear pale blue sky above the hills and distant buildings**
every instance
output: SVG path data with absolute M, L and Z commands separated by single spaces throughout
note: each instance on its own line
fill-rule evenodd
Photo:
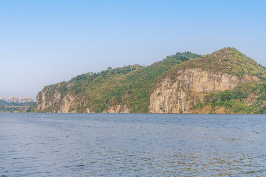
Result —
M 228 46 L 266 65 L 266 0 L 0 0 L 0 96 Z

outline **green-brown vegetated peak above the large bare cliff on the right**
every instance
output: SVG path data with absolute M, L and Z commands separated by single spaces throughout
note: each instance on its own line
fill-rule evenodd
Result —
M 167 75 L 175 75 L 177 70 L 187 68 L 201 68 L 204 71 L 228 73 L 239 78 L 248 75 L 263 79 L 265 72 L 262 65 L 231 47 L 176 65 L 169 70 Z

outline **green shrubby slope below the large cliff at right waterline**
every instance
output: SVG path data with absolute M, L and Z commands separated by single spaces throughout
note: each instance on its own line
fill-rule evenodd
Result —
M 233 90 L 208 93 L 204 101 L 192 109 L 202 109 L 211 106 L 209 113 L 224 107 L 225 113 L 266 114 L 266 82 L 239 83 Z

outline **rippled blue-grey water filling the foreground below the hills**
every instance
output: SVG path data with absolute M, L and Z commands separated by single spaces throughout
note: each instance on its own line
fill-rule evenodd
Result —
M 2 177 L 265 177 L 265 115 L 0 114 Z

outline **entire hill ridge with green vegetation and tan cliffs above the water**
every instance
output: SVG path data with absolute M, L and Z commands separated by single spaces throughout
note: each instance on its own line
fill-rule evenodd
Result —
M 176 53 L 46 86 L 36 112 L 266 113 L 266 68 L 234 48 Z

